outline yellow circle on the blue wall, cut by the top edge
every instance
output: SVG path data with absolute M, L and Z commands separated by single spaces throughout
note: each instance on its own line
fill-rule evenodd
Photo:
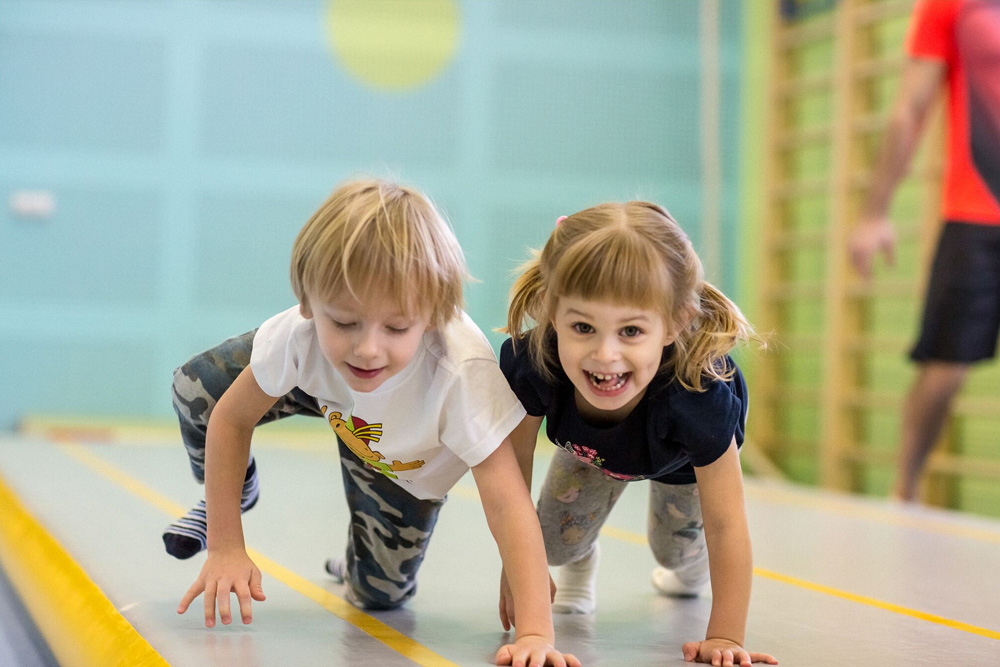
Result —
M 330 0 L 326 28 L 347 71 L 376 88 L 405 90 L 454 57 L 458 7 L 455 0 Z

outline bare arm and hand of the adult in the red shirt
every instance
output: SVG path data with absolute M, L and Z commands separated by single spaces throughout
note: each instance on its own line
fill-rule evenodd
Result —
M 871 277 L 876 252 L 884 252 L 892 263 L 896 237 L 889 220 L 889 204 L 906 175 L 945 71 L 940 60 L 912 57 L 903 69 L 882 147 L 871 170 L 868 194 L 850 240 L 851 263 L 863 278 Z

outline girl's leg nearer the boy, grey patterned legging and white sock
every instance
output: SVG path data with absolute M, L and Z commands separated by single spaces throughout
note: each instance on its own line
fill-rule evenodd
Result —
M 591 614 L 597 606 L 597 537 L 626 482 L 557 449 L 538 498 L 549 565 L 561 566 L 552 611 Z

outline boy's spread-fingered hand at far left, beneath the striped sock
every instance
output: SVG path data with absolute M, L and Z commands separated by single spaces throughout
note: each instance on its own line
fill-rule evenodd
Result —
M 219 618 L 222 619 L 222 624 L 229 625 L 232 622 L 233 617 L 229 610 L 230 593 L 236 593 L 239 599 L 240 616 L 244 624 L 253 620 L 253 613 L 250 610 L 251 598 L 258 602 L 264 600 L 260 570 L 243 549 L 209 551 L 208 558 L 201 568 L 201 574 L 181 598 L 177 613 L 186 612 L 188 605 L 203 592 L 207 628 L 215 625 L 216 601 L 219 603 Z

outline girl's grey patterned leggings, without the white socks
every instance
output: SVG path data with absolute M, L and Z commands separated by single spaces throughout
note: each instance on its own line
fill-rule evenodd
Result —
M 565 565 L 590 551 L 625 487 L 572 454 L 556 449 L 538 498 L 538 518 L 549 565 Z M 671 570 L 702 566 L 708 558 L 697 484 L 649 483 L 646 529 L 656 561 Z

